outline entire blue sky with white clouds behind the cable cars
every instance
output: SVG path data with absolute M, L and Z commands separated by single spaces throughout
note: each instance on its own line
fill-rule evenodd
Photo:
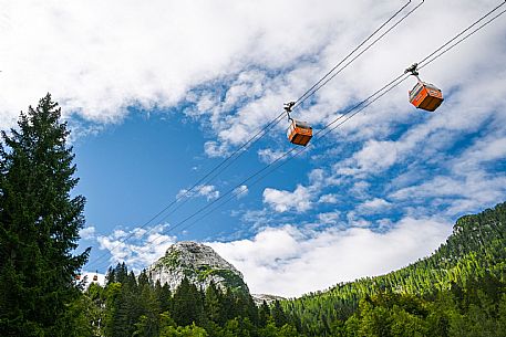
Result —
M 241 186 L 291 148 L 283 119 L 173 213 L 148 220 L 406 2 L 7 2 L 0 125 L 47 92 L 61 104 L 74 192 L 87 199 L 84 272 L 118 261 L 138 271 L 196 240 L 255 293 L 296 296 L 385 273 L 434 251 L 459 215 L 506 199 L 503 17 L 423 69 L 443 89 L 437 112 L 410 105 L 410 78 Z M 425 1 L 293 116 L 318 131 L 499 3 Z M 179 224 L 236 187 L 245 193 Z

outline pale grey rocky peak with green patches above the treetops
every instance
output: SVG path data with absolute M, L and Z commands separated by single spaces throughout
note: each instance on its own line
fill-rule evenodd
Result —
M 242 274 L 219 256 L 210 246 L 197 242 L 183 241 L 169 246 L 165 256 L 147 270 L 151 278 L 161 284 L 168 284 L 176 289 L 184 277 L 197 288 L 206 289 L 211 282 L 225 291 L 249 293 Z

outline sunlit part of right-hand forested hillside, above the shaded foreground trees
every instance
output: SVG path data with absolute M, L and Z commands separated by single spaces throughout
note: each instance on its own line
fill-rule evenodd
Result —
M 355 316 L 352 318 L 357 318 L 359 303 L 359 313 L 364 309 L 364 304 L 360 302 L 364 298 L 369 305 L 374 302 L 384 303 L 385 296 L 390 299 L 400 296 L 401 299 L 395 298 L 401 302 L 412 302 L 413 298 L 415 302 L 432 302 L 442 294 L 463 292 L 464 295 L 457 296 L 463 299 L 465 294 L 471 293 L 471 288 L 490 288 L 493 284 L 495 294 L 490 296 L 497 298 L 490 301 L 496 301 L 494 305 L 497 305 L 506 281 L 505 236 L 506 202 L 479 214 L 458 219 L 446 243 L 426 259 L 383 276 L 338 284 L 323 293 L 311 293 L 287 301 L 283 307 L 301 331 L 318 336 L 329 334 L 332 325 L 345 322 L 353 314 Z M 397 299 L 394 304 L 399 307 Z

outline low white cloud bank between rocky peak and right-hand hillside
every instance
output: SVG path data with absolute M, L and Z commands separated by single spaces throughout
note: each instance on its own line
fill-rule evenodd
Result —
M 432 253 L 450 233 L 451 225 L 438 220 L 405 218 L 384 233 L 287 225 L 209 245 L 244 273 L 252 293 L 299 296 L 405 266 Z

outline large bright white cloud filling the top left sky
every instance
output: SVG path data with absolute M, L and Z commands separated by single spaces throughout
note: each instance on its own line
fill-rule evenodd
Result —
M 304 1 L 6 2 L 2 123 L 48 91 L 65 109 L 102 122 L 122 118 L 130 105 L 171 106 L 245 64 L 283 66 L 313 52 L 340 11 Z M 261 78 L 244 77 L 254 83 L 244 91 L 261 91 Z

